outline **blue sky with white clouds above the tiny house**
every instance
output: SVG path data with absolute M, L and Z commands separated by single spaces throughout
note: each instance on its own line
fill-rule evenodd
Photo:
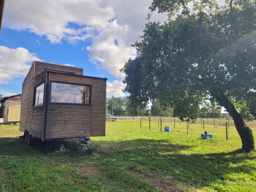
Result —
M 139 41 L 151 0 L 8 0 L 0 35 L 0 94 L 21 94 L 33 60 L 72 65 L 107 78 L 107 97 L 122 97 L 119 70 Z M 166 21 L 154 14 L 150 21 Z

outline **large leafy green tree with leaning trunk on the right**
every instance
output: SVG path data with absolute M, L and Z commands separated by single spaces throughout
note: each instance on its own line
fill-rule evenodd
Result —
M 210 97 L 233 117 L 242 151 L 255 149 L 252 130 L 238 111 L 256 90 L 255 0 L 154 0 L 149 9 L 168 12 L 169 20 L 147 23 L 134 44 L 137 58 L 123 68 L 130 99 L 157 98 L 182 118 L 194 119 Z

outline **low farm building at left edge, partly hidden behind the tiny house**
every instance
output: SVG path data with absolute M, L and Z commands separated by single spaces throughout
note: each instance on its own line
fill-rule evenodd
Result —
M 21 117 L 21 94 L 4 97 L 1 100 L 0 118 L 4 123 L 20 122 Z

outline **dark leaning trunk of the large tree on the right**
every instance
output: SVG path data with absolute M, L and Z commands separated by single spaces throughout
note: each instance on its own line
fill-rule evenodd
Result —
M 230 102 L 230 100 L 228 100 L 228 97 L 226 97 L 223 93 L 213 95 L 215 96 L 215 99 L 220 102 L 220 105 L 225 107 L 227 112 L 233 118 L 235 128 L 237 129 L 238 134 L 242 140 L 242 151 L 250 152 L 254 150 L 255 143 L 252 135 L 252 129 L 246 126 L 245 121 L 242 119 L 238 110 L 235 109 L 234 105 Z

